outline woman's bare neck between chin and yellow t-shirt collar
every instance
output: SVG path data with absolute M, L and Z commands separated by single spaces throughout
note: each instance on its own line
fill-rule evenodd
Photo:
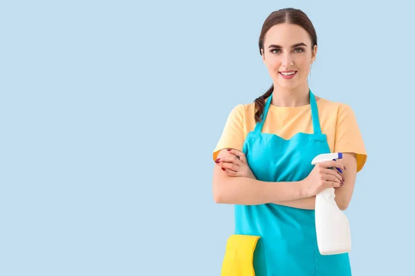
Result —
M 284 107 L 298 107 L 305 106 L 310 103 L 310 95 L 308 84 L 305 83 L 303 86 L 298 86 L 293 89 L 282 88 L 275 86 L 273 92 L 273 106 L 284 106 Z

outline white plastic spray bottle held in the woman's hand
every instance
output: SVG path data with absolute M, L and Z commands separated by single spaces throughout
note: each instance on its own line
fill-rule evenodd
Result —
M 342 159 L 342 152 L 317 155 L 312 165 Z M 334 188 L 326 188 L 315 196 L 315 230 L 321 255 L 348 253 L 351 250 L 349 219 L 338 208 Z

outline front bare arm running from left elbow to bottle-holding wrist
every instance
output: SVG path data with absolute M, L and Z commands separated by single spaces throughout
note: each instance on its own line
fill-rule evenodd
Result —
M 219 152 L 218 158 L 230 155 L 226 149 Z M 275 201 L 301 199 L 302 185 L 294 182 L 267 182 L 248 177 L 230 177 L 214 166 L 213 197 L 216 203 L 257 205 Z

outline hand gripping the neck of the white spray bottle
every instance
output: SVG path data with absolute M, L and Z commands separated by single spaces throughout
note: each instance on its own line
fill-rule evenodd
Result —
M 308 177 L 300 181 L 304 197 L 313 197 L 326 188 L 342 186 L 344 178 L 336 168 L 346 169 L 342 164 L 342 159 L 316 164 Z

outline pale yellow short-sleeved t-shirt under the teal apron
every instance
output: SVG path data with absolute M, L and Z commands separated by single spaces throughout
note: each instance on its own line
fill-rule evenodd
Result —
M 362 170 L 367 152 L 351 107 L 323 98 L 317 100 L 317 107 L 320 127 L 327 137 L 330 151 L 356 153 L 357 171 Z M 239 104 L 232 109 L 221 138 L 214 148 L 214 160 L 223 148 L 242 151 L 246 135 L 255 128 L 255 111 L 255 103 Z M 262 132 L 273 133 L 284 139 L 291 139 L 297 132 L 312 134 L 311 105 L 277 107 L 271 104 Z

